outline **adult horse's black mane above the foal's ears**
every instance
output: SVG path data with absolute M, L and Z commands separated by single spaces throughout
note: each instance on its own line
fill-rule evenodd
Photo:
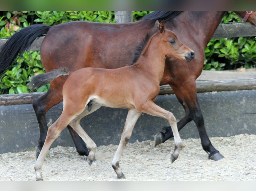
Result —
M 154 11 L 143 17 L 140 21 L 144 21 L 147 23 L 145 27 L 152 27 L 155 25 L 156 20 L 158 20 L 159 22 L 166 22 L 176 17 L 181 12 L 183 11 Z

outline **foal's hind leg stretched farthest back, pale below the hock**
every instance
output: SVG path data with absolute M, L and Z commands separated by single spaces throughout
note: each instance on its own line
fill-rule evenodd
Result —
M 48 128 L 44 145 L 42 147 L 42 150 L 34 166 L 35 173 L 36 173 L 36 180 L 43 180 L 42 166 L 43 166 L 43 162 L 46 157 L 46 154 L 50 149 L 50 146 L 53 143 L 53 141 L 59 136 L 61 131 L 69 124 L 71 120 L 72 120 L 72 116 L 68 117 L 65 114 L 64 115 L 61 114 L 60 117 L 57 119 L 57 121 Z

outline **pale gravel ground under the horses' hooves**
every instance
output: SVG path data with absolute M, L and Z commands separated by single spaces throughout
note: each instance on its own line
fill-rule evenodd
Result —
M 200 139 L 186 139 L 179 158 L 170 163 L 174 141 L 153 147 L 153 141 L 128 143 L 120 167 L 125 180 L 256 180 L 256 135 L 211 137 L 225 157 L 208 159 Z M 118 180 L 111 161 L 117 145 L 99 146 L 91 166 L 73 147 L 50 149 L 43 164 L 44 180 Z M 0 154 L 0 180 L 35 180 L 35 153 Z

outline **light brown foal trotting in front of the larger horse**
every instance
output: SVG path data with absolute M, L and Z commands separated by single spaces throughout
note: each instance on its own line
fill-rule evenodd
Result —
M 174 115 L 157 106 L 153 101 L 159 94 L 159 83 L 163 77 L 166 56 L 191 61 L 194 52 L 182 44 L 175 33 L 164 28 L 163 21 L 156 21 L 158 28 L 146 44 L 137 61 L 117 69 L 82 68 L 70 73 L 64 69 L 35 76 L 34 87 L 47 84 L 59 76 L 69 76 L 63 85 L 63 111 L 47 132 L 45 143 L 35 163 L 36 180 L 42 180 L 42 165 L 46 154 L 61 131 L 70 125 L 85 141 L 89 150 L 87 161 L 91 165 L 96 144 L 80 126 L 80 120 L 101 106 L 128 108 L 121 140 L 112 161 L 117 178 L 125 178 L 119 161 L 122 151 L 132 135 L 137 119 L 142 112 L 161 117 L 169 122 L 174 134 L 175 149 L 171 154 L 173 163 L 183 147 Z M 129 79 L 129 81 L 127 81 Z M 75 86 L 74 86 L 75 85 Z

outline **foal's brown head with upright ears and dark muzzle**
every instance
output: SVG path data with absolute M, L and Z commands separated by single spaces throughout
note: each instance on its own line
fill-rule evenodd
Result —
M 161 42 L 160 46 L 165 56 L 175 57 L 188 62 L 194 59 L 194 51 L 181 43 L 174 32 L 166 29 L 163 21 L 159 23 L 157 20 L 156 26 L 158 27 L 158 35 Z

